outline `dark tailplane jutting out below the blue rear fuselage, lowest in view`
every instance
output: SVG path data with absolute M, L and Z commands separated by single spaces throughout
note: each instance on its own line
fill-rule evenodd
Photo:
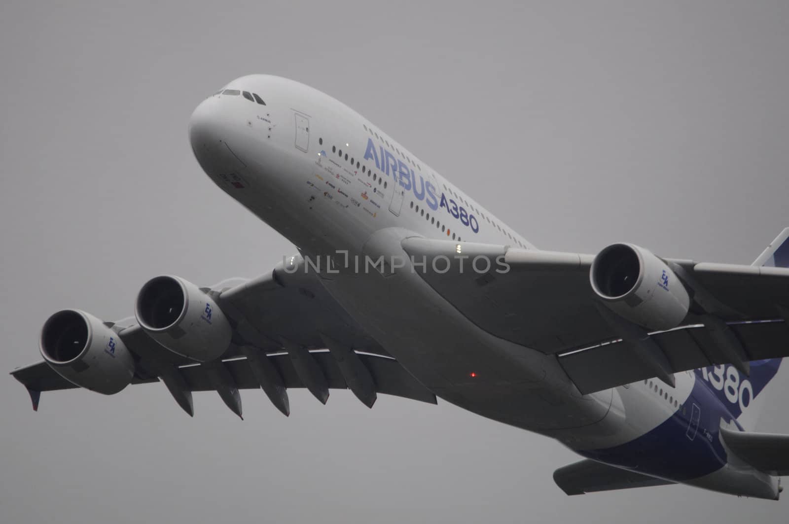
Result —
M 553 480 L 567 495 L 675 484 L 589 459 L 555 470 Z

